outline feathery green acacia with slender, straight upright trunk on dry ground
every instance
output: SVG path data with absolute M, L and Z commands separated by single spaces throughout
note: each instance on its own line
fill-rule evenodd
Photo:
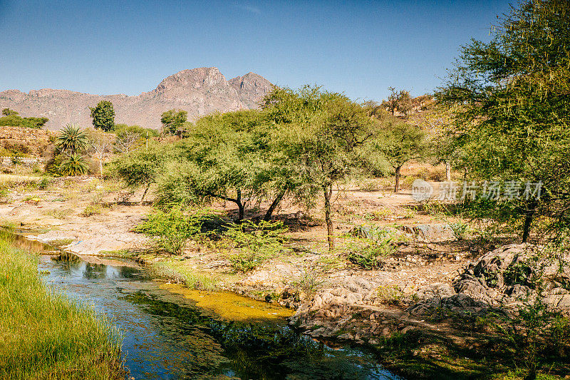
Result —
M 355 148 L 373 137 L 375 122 L 365 108 L 339 93 L 304 86 L 276 88 L 265 99 L 275 123 L 272 140 L 283 161 L 302 181 L 306 195 L 321 192 L 329 250 L 334 249 L 331 196 L 333 185 L 356 167 Z

